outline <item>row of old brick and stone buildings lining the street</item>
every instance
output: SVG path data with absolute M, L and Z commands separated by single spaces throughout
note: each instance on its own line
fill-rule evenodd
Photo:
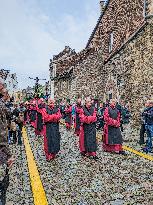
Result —
M 153 96 L 153 1 L 108 0 L 86 47 L 50 60 L 52 96 L 130 102 L 133 119 Z

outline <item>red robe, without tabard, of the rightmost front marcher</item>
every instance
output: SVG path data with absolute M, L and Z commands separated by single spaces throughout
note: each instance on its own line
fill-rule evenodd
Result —
M 104 137 L 103 137 L 103 149 L 107 152 L 115 152 L 115 151 L 122 151 L 122 144 L 110 144 L 109 143 L 109 129 L 115 128 L 115 130 L 118 130 L 118 133 L 120 134 L 120 112 L 117 112 L 117 118 L 113 119 L 109 115 L 109 108 L 107 107 L 104 111 Z M 110 126 L 110 128 L 109 128 Z

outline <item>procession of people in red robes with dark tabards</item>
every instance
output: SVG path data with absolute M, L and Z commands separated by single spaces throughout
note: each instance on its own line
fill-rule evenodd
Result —
M 55 105 L 53 99 L 33 99 L 25 103 L 24 123 L 30 123 L 35 129 L 36 135 L 44 137 L 44 151 L 46 160 L 53 160 L 60 151 L 59 123 L 64 119 L 66 129 L 75 128 L 75 135 L 79 137 L 80 154 L 91 159 L 98 159 L 96 125 L 97 120 L 103 126 L 103 150 L 126 155 L 122 148 L 121 112 L 117 108 L 117 102 L 112 99 L 109 105 L 100 106 L 97 112 L 95 104 L 90 97 L 85 99 L 84 105 L 81 99 L 71 105 L 69 102 Z M 98 118 L 98 119 L 97 119 Z M 127 109 L 125 120 L 128 123 L 130 113 Z

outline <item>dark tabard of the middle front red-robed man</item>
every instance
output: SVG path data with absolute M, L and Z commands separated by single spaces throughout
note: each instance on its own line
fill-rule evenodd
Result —
M 92 106 L 90 109 L 86 107 L 83 108 L 85 116 L 92 116 L 95 108 Z M 83 124 L 84 128 L 84 147 L 86 152 L 96 152 L 97 151 L 97 141 L 96 141 L 96 122 L 91 124 Z

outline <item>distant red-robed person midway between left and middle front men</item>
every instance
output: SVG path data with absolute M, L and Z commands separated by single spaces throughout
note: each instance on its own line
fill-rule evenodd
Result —
M 72 106 L 68 102 L 65 108 L 65 124 L 66 129 L 70 130 L 72 126 Z

